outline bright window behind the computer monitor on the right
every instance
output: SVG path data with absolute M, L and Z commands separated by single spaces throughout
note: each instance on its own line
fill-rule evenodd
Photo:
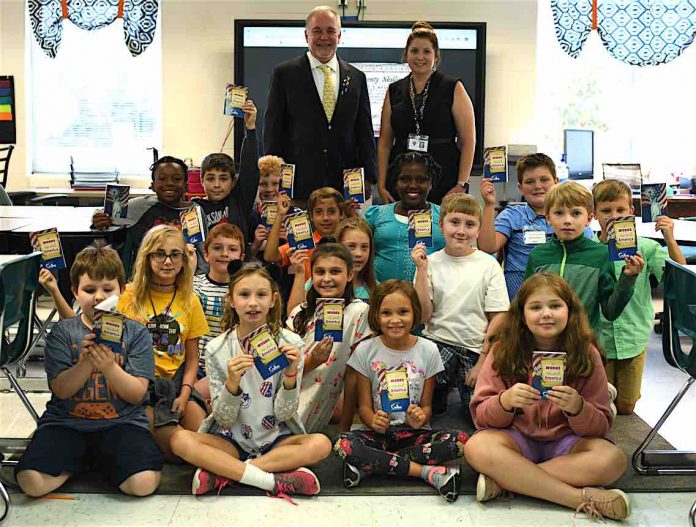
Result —
M 537 143 L 560 158 L 565 128 L 595 132 L 595 179 L 602 163 L 640 163 L 652 181 L 696 173 L 696 44 L 668 64 L 629 66 L 592 32 L 577 59 L 556 40 L 550 3 L 539 2 Z

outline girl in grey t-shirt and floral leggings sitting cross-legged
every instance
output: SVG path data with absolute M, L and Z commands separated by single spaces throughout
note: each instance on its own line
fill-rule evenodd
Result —
M 437 346 L 411 334 L 420 314 L 410 283 L 387 280 L 377 286 L 369 320 L 378 336 L 358 344 L 348 361 L 356 371 L 362 425 L 339 434 L 334 452 L 344 461 L 346 487 L 372 474 L 410 476 L 453 502 L 459 470 L 443 464 L 462 456 L 468 436 L 430 429 L 435 375 L 444 367 Z

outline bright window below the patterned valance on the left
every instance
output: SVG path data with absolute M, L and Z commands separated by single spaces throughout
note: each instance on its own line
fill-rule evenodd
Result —
M 159 25 L 159 24 L 158 24 Z M 78 171 L 149 178 L 152 152 L 162 143 L 162 47 L 155 40 L 131 56 L 116 20 L 96 31 L 63 21 L 55 59 L 28 25 L 33 173 Z

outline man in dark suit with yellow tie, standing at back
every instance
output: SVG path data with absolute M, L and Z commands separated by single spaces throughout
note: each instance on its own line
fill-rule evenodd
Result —
M 331 8 L 307 16 L 309 52 L 273 70 L 264 121 L 264 151 L 295 164 L 298 205 L 312 190 L 343 192 L 343 169 L 365 169 L 366 193 L 377 161 L 365 75 L 336 57 L 341 20 Z

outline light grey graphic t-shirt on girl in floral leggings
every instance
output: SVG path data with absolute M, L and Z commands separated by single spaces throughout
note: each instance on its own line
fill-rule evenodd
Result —
M 380 337 L 365 340 L 355 348 L 348 359 L 348 366 L 370 379 L 372 408 L 375 412 L 382 409 L 382 392 L 386 389 L 387 373 L 405 370 L 410 404 L 420 406 L 426 379 L 445 369 L 437 345 L 422 337 L 418 337 L 412 348 L 404 351 L 388 348 Z M 404 424 L 406 412 L 389 414 L 389 421 L 391 425 Z M 424 428 L 427 427 L 426 423 Z M 368 429 L 362 423 L 357 428 Z

